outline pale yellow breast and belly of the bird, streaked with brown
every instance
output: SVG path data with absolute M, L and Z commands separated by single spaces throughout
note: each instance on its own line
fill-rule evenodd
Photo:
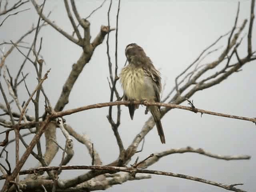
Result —
M 142 68 L 127 66 L 122 69 L 120 78 L 124 94 L 129 100 L 154 99 L 154 84 Z

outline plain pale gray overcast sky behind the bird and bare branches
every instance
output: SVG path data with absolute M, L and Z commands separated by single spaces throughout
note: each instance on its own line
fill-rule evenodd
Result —
M 10 0 L 10 2 L 12 1 Z M 97 0 L 85 3 L 83 0 L 76 0 L 78 11 L 82 17 L 88 16 L 101 2 Z M 117 3 L 118 1 L 114 0 L 112 5 L 110 17 L 110 26 L 112 27 L 115 27 Z M 100 10 L 89 18 L 92 39 L 98 34 L 101 25 L 107 25 L 108 5 L 109 2 L 107 1 Z M 156 68 L 160 70 L 162 82 L 166 82 L 166 88 L 163 92 L 164 98 L 174 86 L 175 77 L 204 48 L 212 44 L 220 35 L 232 29 L 237 5 L 238 1 L 236 0 L 121 1 L 118 28 L 118 73 L 126 61 L 124 48 L 130 42 L 136 42 L 144 48 Z M 8 18 L 0 27 L 0 42 L 3 40 L 6 42 L 17 40 L 21 34 L 32 26 L 32 23 L 36 24 L 38 15 L 32 4 L 24 7 L 30 7 L 31 9 Z M 50 16 L 51 20 L 54 20 L 63 30 L 71 33 L 72 26 L 68 20 L 64 3 L 60 0 L 47 1 L 44 12 L 48 13 L 49 10 L 53 10 Z M 250 1 L 241 1 L 238 26 L 242 24 L 244 19 L 249 18 L 249 11 Z M 0 19 L 2 20 L 2 18 Z M 255 21 L 253 30 L 253 50 L 256 50 Z M 247 32 L 248 23 L 242 36 L 247 35 Z M 113 64 L 114 35 L 115 32 L 111 32 L 110 53 Z M 32 42 L 33 37 L 33 35 L 29 36 L 26 41 Z M 78 60 L 81 54 L 81 49 L 50 26 L 43 28 L 38 37 L 43 37 L 41 54 L 46 62 L 44 70 L 51 68 L 48 79 L 44 82 L 44 89 L 52 105 L 55 105 L 72 64 Z M 218 46 L 225 47 L 226 43 L 227 39 L 224 39 L 215 48 Z M 246 46 L 247 39 L 245 36 L 244 41 L 238 48 L 241 58 L 246 56 Z M 212 54 L 204 60 L 204 63 L 217 58 L 219 53 Z M 16 74 L 22 61 L 22 55 L 15 50 L 6 60 L 6 64 L 10 72 Z M 243 66 L 242 69 L 242 71 L 233 74 L 221 84 L 194 94 L 191 99 L 194 100 L 196 107 L 215 112 L 255 117 L 256 62 L 250 62 Z M 34 66 L 27 62 L 23 72 L 30 72 L 26 82 L 30 90 L 33 90 L 36 86 Z M 69 104 L 65 109 L 108 102 L 110 98 L 108 76 L 106 40 L 104 40 L 104 43 L 96 48 L 92 59 L 80 74 L 70 94 Z M 4 82 L 2 77 L 0 80 Z M 4 87 L 6 88 L 6 86 Z M 120 83 L 118 83 L 118 90 L 121 91 Z M 21 101 L 28 99 L 24 84 L 19 87 L 18 95 Z M 3 102 L 2 95 L 0 100 Z M 187 102 L 182 105 L 187 105 Z M 14 106 L 13 108 L 16 109 Z M 145 116 L 145 108 L 140 107 L 139 110 L 136 110 L 132 121 L 128 115 L 128 109 L 124 106 L 121 108 L 122 115 L 119 132 L 126 148 L 150 115 Z M 33 112 L 34 108 L 30 105 L 28 113 L 33 115 Z M 42 99 L 40 113 L 42 114 L 43 112 L 44 100 Z M 108 108 L 101 108 L 66 116 L 66 121 L 77 132 L 90 136 L 94 147 L 98 150 L 103 160 L 103 164 L 115 160 L 119 152 L 116 139 L 106 118 L 107 114 Z M 239 188 L 248 191 L 256 190 L 256 168 L 254 162 L 254 156 L 256 156 L 254 149 L 255 124 L 206 114 L 201 118 L 200 114 L 175 109 L 162 118 L 162 125 L 166 136 L 166 144 L 161 144 L 156 128 L 154 128 L 146 136 L 144 150 L 138 154 L 140 159 L 154 152 L 186 146 L 203 148 L 206 151 L 221 155 L 248 154 L 252 158 L 251 160 L 224 161 L 199 154 L 175 154 L 162 158 L 158 163 L 149 167 L 150 169 L 188 174 L 224 184 L 244 183 L 244 186 L 239 186 Z M 3 135 L 0 138 L 2 140 Z M 27 141 L 31 138 L 27 137 Z M 42 137 L 41 142 L 44 145 L 44 137 Z M 58 142 L 64 146 L 65 139 L 59 130 Z M 14 144 L 8 147 L 9 158 L 14 166 L 15 153 L 12 152 L 13 149 Z M 21 149 L 24 150 L 23 146 Z M 75 141 L 74 150 L 75 155 L 70 161 L 70 165 L 88 165 L 91 163 L 90 156 L 82 144 Z M 52 161 L 52 165 L 59 164 L 61 155 L 62 151 L 59 150 Z M 134 160 L 131 162 L 133 163 Z M 36 165 L 36 162 L 30 156 L 23 169 L 31 167 L 31 165 Z M 64 171 L 60 178 L 70 178 L 70 176 L 73 177 L 82 172 L 77 170 Z M 1 181 L 0 185 L 2 184 L 3 182 Z M 125 184 L 114 186 L 108 191 L 120 190 L 124 192 L 166 190 L 224 191 L 215 186 L 190 180 L 154 175 L 150 180 L 126 182 Z

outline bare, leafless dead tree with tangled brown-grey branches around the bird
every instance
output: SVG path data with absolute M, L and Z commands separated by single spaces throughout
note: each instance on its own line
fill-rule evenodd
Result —
M 102 4 L 96 8 L 91 14 L 97 11 L 106 0 L 102 2 Z M 9 5 L 6 0 L 0 1 L 0 16 L 6 16 L 2 19 L 2 23 L 8 22 L 8 17 L 19 14 L 22 11 L 26 11 L 28 9 L 20 10 L 20 8 L 24 5 L 28 4 L 28 1 L 19 0 L 13 5 Z M 144 138 L 152 130 L 155 125 L 155 122 L 152 117 L 150 117 L 140 130 L 140 132 L 136 135 L 136 137 L 132 140 L 132 143 L 127 148 L 124 147 L 120 134 L 118 132 L 118 128 L 120 127 L 120 115 L 121 115 L 121 105 L 129 104 L 128 101 L 122 100 L 122 93 L 118 92 L 116 89 L 116 83 L 118 82 L 118 16 L 120 11 L 120 0 L 118 2 L 118 11 L 116 13 L 116 26 L 114 28 L 110 27 L 110 11 L 112 7 L 112 0 L 110 0 L 110 5 L 108 9 L 108 25 L 99 26 L 99 32 L 95 38 L 91 38 L 90 34 L 90 22 L 88 18 L 81 17 L 81 13 L 78 13 L 76 8 L 76 4 L 74 0 L 64 0 L 66 13 L 68 14 L 68 18 L 72 24 L 74 30 L 73 34 L 68 34 L 68 32 L 64 31 L 60 26 L 57 25 L 58 22 L 53 22 L 50 19 L 50 13 L 44 13 L 44 5 L 46 0 L 39 5 L 35 0 L 30 0 L 31 5 L 34 7 L 36 12 L 38 13 L 38 22 L 36 27 L 32 27 L 28 32 L 23 34 L 20 39 L 13 42 L 2 42 L 0 46 L 9 47 L 9 50 L 1 49 L 1 62 L 0 62 L 0 89 L 4 101 L 0 102 L 0 108 L 2 110 L 1 116 L 4 118 L 0 118 L 0 126 L 4 127 L 5 130 L 1 132 L 2 135 L 5 134 L 5 139 L 0 143 L 2 146 L 2 151 L 0 156 L 5 161 L 0 164 L 0 169 L 2 171 L 2 176 L 0 176 L 1 180 L 5 180 L 4 186 L 2 186 L 1 192 L 9 191 L 92 191 L 92 190 L 105 190 L 115 184 L 121 184 L 128 180 L 141 180 L 151 178 L 151 174 L 159 174 L 165 176 L 172 176 L 178 178 L 184 178 L 188 180 L 194 180 L 197 182 L 202 182 L 205 184 L 210 184 L 214 186 L 218 186 L 220 188 L 224 188 L 226 190 L 242 192 L 236 186 L 241 185 L 237 184 L 221 184 L 219 182 L 214 182 L 210 180 L 206 180 L 203 178 L 198 178 L 194 176 L 188 176 L 184 174 L 177 174 L 166 171 L 159 170 L 150 170 L 146 169 L 152 164 L 158 162 L 158 160 L 164 156 L 168 156 L 170 154 L 176 153 L 185 153 L 185 152 L 193 152 L 202 154 L 205 156 L 209 156 L 211 158 L 224 159 L 224 160 L 244 160 L 250 159 L 250 156 L 221 156 L 212 154 L 207 152 L 201 148 L 195 149 L 192 147 L 187 148 L 178 148 L 178 149 L 170 149 L 162 152 L 156 152 L 154 154 L 149 155 L 142 161 L 138 161 L 132 163 L 132 165 L 128 165 L 130 163 L 131 158 L 137 153 L 138 146 L 140 143 L 142 144 L 142 148 L 144 145 Z M 223 116 L 226 118 L 235 118 L 240 120 L 246 120 L 250 122 L 256 123 L 256 118 L 248 118 L 242 116 L 235 116 L 231 114 L 222 114 L 218 112 L 212 112 L 204 109 L 199 109 L 194 106 L 193 101 L 189 100 L 196 92 L 199 90 L 204 90 L 206 88 L 211 88 L 216 84 L 220 84 L 226 80 L 232 74 L 239 72 L 245 64 L 250 63 L 251 61 L 256 59 L 255 51 L 252 49 L 252 26 L 254 21 L 254 6 L 255 0 L 251 2 L 251 9 L 249 20 L 244 20 L 242 24 L 238 24 L 238 15 L 239 15 L 239 4 L 238 10 L 234 22 L 233 28 L 230 32 L 221 35 L 215 42 L 213 42 L 210 46 L 204 49 L 201 54 L 192 62 L 182 73 L 178 74 L 175 80 L 174 87 L 171 92 L 168 93 L 166 98 L 162 100 L 161 103 L 151 103 L 151 102 L 135 102 L 136 104 L 143 105 L 156 105 L 162 106 L 161 113 L 162 116 L 166 115 L 171 109 L 179 108 L 182 110 L 190 110 L 193 113 L 202 114 L 210 114 L 215 116 Z M 4 8 L 2 8 L 4 7 Z M 15 10 L 19 10 L 14 12 Z M 14 13 L 13 13 L 14 12 Z M 247 32 L 247 37 L 241 37 L 241 33 L 244 31 L 246 24 L 249 25 L 249 30 Z M 50 69 L 43 74 L 42 68 L 44 66 L 44 59 L 40 55 L 40 50 L 42 46 L 42 38 L 38 40 L 38 34 L 40 30 L 44 26 L 51 26 L 54 30 L 58 31 L 61 35 L 66 37 L 72 43 L 76 44 L 81 48 L 81 56 L 78 58 L 75 64 L 72 66 L 72 70 L 70 71 L 69 76 L 66 79 L 66 82 L 63 84 L 62 92 L 60 97 L 58 98 L 57 103 L 54 107 L 51 105 L 51 98 L 47 97 L 47 93 L 44 91 L 44 81 L 47 80 L 48 76 L 51 75 Z M 22 40 L 34 33 L 34 38 L 31 43 L 31 46 L 27 47 L 22 44 Z M 112 61 L 109 53 L 109 36 L 115 33 L 115 58 L 114 58 L 114 66 L 112 66 Z M 75 36 L 74 36 L 75 35 Z M 93 34 L 95 36 L 95 34 Z M 203 63 L 202 60 L 215 52 L 218 49 L 213 49 L 218 42 L 223 39 L 227 39 L 227 44 L 225 48 L 221 51 L 221 54 L 213 60 L 212 62 Z M 108 66 L 109 66 L 109 87 L 111 90 L 110 93 L 110 101 L 106 103 L 98 103 L 92 104 L 88 106 L 81 106 L 80 108 L 68 109 L 64 110 L 66 104 L 68 104 L 70 92 L 78 79 L 80 73 L 82 72 L 84 66 L 90 61 L 94 50 L 104 42 L 106 39 L 107 45 L 107 56 L 108 56 Z M 247 55 L 243 58 L 239 56 L 238 47 L 242 40 L 247 41 Z M 36 44 L 39 44 L 36 46 Z M 6 63 L 6 58 L 12 54 L 12 51 L 17 49 L 20 54 L 24 56 L 24 61 L 20 64 L 20 69 L 18 70 L 18 74 L 14 76 L 8 70 L 8 63 Z M 28 50 L 24 52 L 24 50 Z M 31 56 L 32 54 L 32 56 Z M 235 61 L 232 58 L 236 58 Z M 37 75 L 38 84 L 37 86 L 31 90 L 29 90 L 26 84 L 26 77 L 28 74 L 23 74 L 22 70 L 25 62 L 30 62 L 33 64 L 35 68 L 35 72 Z M 223 65 L 224 64 L 224 65 Z M 219 66 L 223 67 L 220 69 Z M 112 72 L 114 71 L 114 73 Z M 209 74 L 209 71 L 214 71 L 214 73 Z M 6 84 L 8 89 L 4 90 L 3 84 Z M 18 88 L 20 84 L 24 84 L 26 90 L 28 92 L 28 100 L 23 104 L 19 100 L 18 97 Z M 9 101 L 8 95 L 10 94 L 12 101 Z M 40 97 L 41 95 L 41 97 Z M 39 100 L 45 101 L 45 111 L 43 114 L 39 114 Z M 116 101 L 114 101 L 116 100 Z M 190 106 L 182 106 L 180 105 L 182 102 L 188 101 Z M 28 104 L 32 102 L 34 104 L 34 116 L 28 115 L 26 113 Z M 18 108 L 18 112 L 14 112 L 12 106 L 16 106 Z M 113 108 L 112 106 L 117 106 L 116 108 L 116 117 L 113 118 Z M 112 131 L 114 133 L 116 142 L 119 148 L 119 155 L 115 161 L 110 164 L 102 164 L 102 159 L 100 154 L 94 148 L 93 142 L 90 140 L 88 136 L 78 134 L 76 129 L 72 127 L 71 124 L 64 120 L 64 116 L 74 114 L 77 112 L 81 112 L 84 110 L 90 110 L 93 108 L 101 108 L 108 107 L 108 121 L 110 126 L 112 127 Z M 61 148 L 58 144 L 56 138 L 56 130 L 59 128 L 62 134 L 66 138 L 66 143 L 62 154 L 62 159 L 60 160 L 60 164 L 58 166 L 48 166 L 53 158 L 55 157 L 58 149 Z M 21 129 L 27 129 L 28 133 L 20 134 Z M 15 138 L 10 140 L 9 133 L 14 131 Z M 29 144 L 24 140 L 24 136 L 28 134 L 33 134 L 33 138 Z M 46 140 L 46 147 L 42 149 L 40 143 L 40 137 L 44 134 Z M 92 158 L 92 165 L 68 165 L 70 160 L 74 155 L 73 148 L 73 139 L 78 142 L 84 144 L 88 149 L 88 152 Z M 19 146 L 20 141 L 26 147 L 26 150 L 22 156 L 19 156 Z M 11 170 L 10 162 L 8 161 L 8 151 L 6 150 L 6 146 L 11 142 L 16 143 L 16 164 L 14 170 Z M 34 147 L 36 146 L 37 152 L 34 152 Z M 9 151 L 10 152 L 10 151 Z M 26 162 L 29 155 L 34 156 L 38 160 L 38 165 L 36 168 L 30 168 L 27 170 L 21 170 L 22 166 Z M 69 178 L 69 179 L 59 179 L 58 176 L 61 174 L 62 170 L 90 170 L 88 172 L 84 172 L 77 177 Z M 44 173 L 47 174 L 44 174 Z M 142 174 L 137 174 L 142 173 Z M 28 174 L 24 180 L 19 179 L 19 175 Z M 43 175 L 44 174 L 44 175 Z

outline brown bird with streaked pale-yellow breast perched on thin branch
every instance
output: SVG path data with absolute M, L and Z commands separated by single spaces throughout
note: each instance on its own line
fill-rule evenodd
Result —
M 160 72 L 156 70 L 152 61 L 136 43 L 126 46 L 125 55 L 128 65 L 122 69 L 120 80 L 124 90 L 124 100 L 150 102 L 160 102 L 160 92 L 162 90 Z M 129 113 L 131 119 L 134 116 L 134 104 L 129 104 Z M 160 140 L 165 143 L 164 131 L 160 121 L 160 107 L 148 106 L 154 120 Z

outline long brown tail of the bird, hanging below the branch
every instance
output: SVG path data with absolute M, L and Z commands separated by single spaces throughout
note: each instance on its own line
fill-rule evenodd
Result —
M 158 106 L 150 106 L 149 110 L 152 113 L 152 116 L 154 117 L 154 120 L 156 122 L 156 128 L 157 128 L 158 135 L 160 136 L 160 140 L 164 144 L 165 138 L 164 138 L 164 130 L 163 130 L 162 123 L 161 123 L 160 110 L 159 110 Z

